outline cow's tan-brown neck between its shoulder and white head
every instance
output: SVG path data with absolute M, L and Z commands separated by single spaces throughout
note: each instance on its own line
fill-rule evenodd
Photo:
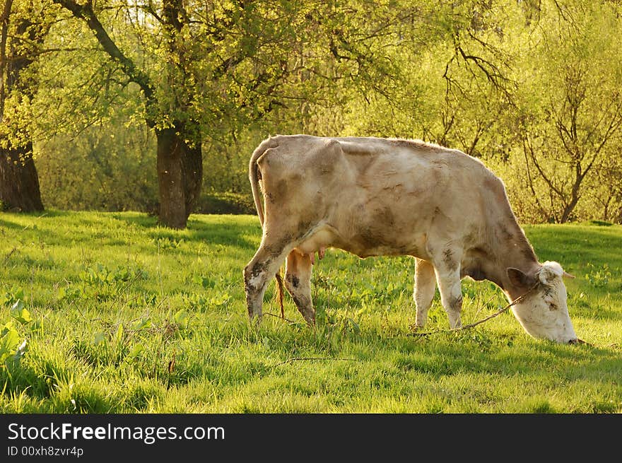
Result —
M 525 274 L 534 274 L 540 264 L 527 237 L 517 223 L 512 226 L 500 224 L 495 227 L 495 258 L 488 269 L 487 279 L 499 286 L 510 300 L 522 295 L 525 291 L 510 282 L 507 268 L 514 267 Z

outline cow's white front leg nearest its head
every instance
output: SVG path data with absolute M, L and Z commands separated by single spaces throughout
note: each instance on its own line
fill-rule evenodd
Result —
M 440 300 L 447 312 L 451 329 L 462 328 L 462 320 L 460 320 L 462 311 L 461 257 L 462 254 L 458 250 L 446 247 L 442 251 L 442 257 L 438 259 L 438 262 L 437 260 L 434 262 Z

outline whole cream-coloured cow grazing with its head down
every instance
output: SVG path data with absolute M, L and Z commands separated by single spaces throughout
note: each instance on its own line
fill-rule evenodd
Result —
M 433 143 L 375 137 L 277 135 L 250 158 L 262 241 L 245 266 L 250 320 L 262 320 L 269 281 L 286 262 L 285 286 L 315 324 L 315 254 L 409 255 L 416 262 L 416 329 L 436 286 L 450 329 L 462 327 L 461 280 L 499 286 L 524 331 L 575 344 L 558 262 L 541 264 L 517 223 L 503 182 L 478 159 Z M 263 201 L 262 201 L 263 193 Z M 262 204 L 263 203 L 263 204 Z

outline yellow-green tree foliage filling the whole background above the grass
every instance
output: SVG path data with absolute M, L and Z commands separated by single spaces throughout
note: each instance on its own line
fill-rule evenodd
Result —
M 201 213 L 254 213 L 253 149 L 304 132 L 459 148 L 522 222 L 622 221 L 615 2 L 190 2 L 174 28 L 161 2 L 98 1 L 135 72 L 55 3 L 14 12 L 48 32 L 26 50 L 37 91 L 7 95 L 4 119 L 34 139 L 52 208 L 157 213 L 154 131 L 176 127 L 201 143 Z

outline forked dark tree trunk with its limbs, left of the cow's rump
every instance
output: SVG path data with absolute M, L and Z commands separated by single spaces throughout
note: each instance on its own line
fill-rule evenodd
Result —
M 192 41 L 190 18 L 181 1 L 164 0 L 159 12 L 151 2 L 141 5 L 141 11 L 151 13 L 155 23 L 143 17 L 143 25 L 158 28 L 164 39 L 163 78 L 156 87 L 154 78 L 141 69 L 124 53 L 100 21 L 100 6 L 95 11 L 93 2 L 78 4 L 74 0 L 54 0 L 83 20 L 95 35 L 105 53 L 112 59 L 128 82 L 136 83 L 143 95 L 145 119 L 155 131 L 157 139 L 157 169 L 160 189 L 160 221 L 171 228 L 184 228 L 187 218 L 201 190 L 202 159 L 201 131 L 192 110 L 193 90 L 196 83 L 194 68 L 190 64 Z M 134 4 L 139 8 L 138 4 Z M 116 6 L 122 10 L 124 6 Z

